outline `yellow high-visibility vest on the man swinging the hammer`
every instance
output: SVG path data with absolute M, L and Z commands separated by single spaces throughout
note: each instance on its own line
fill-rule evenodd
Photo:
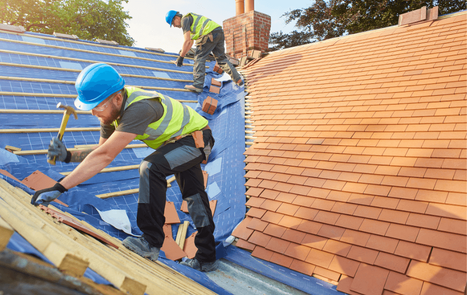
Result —
M 155 91 L 146 91 L 136 87 L 125 87 L 128 94 L 125 107 L 142 99 L 157 98 L 164 107 L 164 114 L 159 120 L 150 123 L 143 135 L 137 135 L 135 140 L 143 141 L 149 148 L 159 148 L 167 140 L 179 135 L 190 134 L 201 130 L 207 125 L 207 120 L 192 108 L 181 104 L 175 99 Z M 114 121 L 115 127 L 118 120 Z

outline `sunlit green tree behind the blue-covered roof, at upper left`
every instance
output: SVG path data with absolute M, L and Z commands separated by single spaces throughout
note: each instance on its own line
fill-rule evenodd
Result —
M 128 0 L 0 0 L 0 23 L 23 26 L 27 31 L 76 34 L 81 39 L 114 40 L 131 46 L 123 11 Z

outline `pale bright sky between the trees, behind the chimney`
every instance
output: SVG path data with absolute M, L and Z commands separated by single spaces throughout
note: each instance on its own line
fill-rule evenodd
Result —
M 255 10 L 271 16 L 271 33 L 282 30 L 289 33 L 294 24 L 285 24 L 284 13 L 311 6 L 312 0 L 256 0 Z M 169 10 L 182 14 L 193 12 L 204 15 L 222 26 L 222 22 L 235 16 L 235 0 L 129 0 L 123 8 L 133 18 L 127 20 L 128 34 L 135 39 L 134 46 L 162 48 L 178 53 L 183 44 L 183 32 L 166 23 Z

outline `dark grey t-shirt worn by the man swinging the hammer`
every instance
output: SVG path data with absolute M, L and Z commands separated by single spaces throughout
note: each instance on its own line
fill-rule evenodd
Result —
M 164 114 L 164 107 L 158 98 L 143 99 L 132 103 L 124 111 L 123 108 L 124 103 L 117 128 L 113 124 L 104 125 L 101 123 L 100 135 L 102 138 L 109 138 L 115 130 L 143 135 L 147 126 L 162 118 Z

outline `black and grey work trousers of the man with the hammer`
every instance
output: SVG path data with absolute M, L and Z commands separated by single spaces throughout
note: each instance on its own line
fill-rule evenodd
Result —
M 204 146 L 209 145 L 210 150 L 214 144 L 210 129 L 203 131 L 203 139 Z M 175 175 L 198 231 L 195 236 L 198 248 L 195 258 L 200 262 L 213 262 L 216 260 L 215 226 L 200 165 L 205 159 L 204 151 L 203 148 L 196 148 L 193 136 L 188 135 L 157 148 L 141 162 L 136 221 L 146 240 L 154 247 L 162 247 L 165 237 L 166 177 Z

